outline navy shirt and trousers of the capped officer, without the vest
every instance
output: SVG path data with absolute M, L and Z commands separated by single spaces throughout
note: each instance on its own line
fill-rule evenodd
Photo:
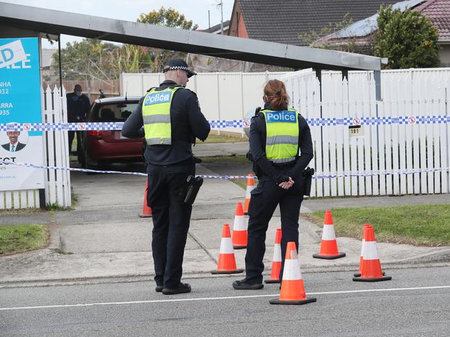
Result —
M 165 80 L 156 92 L 177 86 L 177 83 Z M 145 135 L 144 98 L 123 125 L 123 136 L 138 138 Z M 192 211 L 192 206 L 183 202 L 188 190 L 186 179 L 195 175 L 192 144 L 195 144 L 195 138 L 205 140 L 210 131 L 194 92 L 185 88 L 174 91 L 170 104 L 170 129 L 170 145 L 147 145 L 144 152 L 148 176 L 147 204 L 153 214 L 154 280 L 156 291 L 163 293 L 165 289 L 188 286 L 181 284 L 183 253 Z

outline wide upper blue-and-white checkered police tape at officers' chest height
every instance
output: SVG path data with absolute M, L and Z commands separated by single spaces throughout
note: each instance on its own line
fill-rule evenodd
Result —
M 306 118 L 309 126 L 357 126 L 357 125 L 435 125 L 450 123 L 450 116 L 385 116 Z M 249 127 L 249 120 L 210 120 L 212 129 Z M 57 123 L 0 123 L 0 131 L 106 131 L 121 130 L 123 122 L 57 122 Z

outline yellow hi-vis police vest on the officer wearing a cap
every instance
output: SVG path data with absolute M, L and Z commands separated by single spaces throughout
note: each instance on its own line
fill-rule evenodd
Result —
M 171 145 L 172 129 L 170 125 L 170 105 L 172 98 L 182 86 L 161 91 L 151 89 L 142 102 L 145 140 L 148 145 Z

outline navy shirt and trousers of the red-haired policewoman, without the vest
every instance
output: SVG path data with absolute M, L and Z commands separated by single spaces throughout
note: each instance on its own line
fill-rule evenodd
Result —
M 270 104 L 265 104 L 264 109 L 271 110 Z M 255 172 L 258 176 L 258 185 L 251 191 L 249 205 L 248 246 L 245 256 L 246 277 L 242 281 L 246 284 L 257 284 L 262 287 L 262 271 L 264 270 L 262 259 L 266 251 L 266 232 L 269 220 L 278 205 L 280 205 L 282 228 L 280 280 L 287 242 L 295 242 L 298 249 L 298 216 L 304 192 L 303 171 L 313 158 L 311 132 L 305 118 L 300 114 L 298 114 L 298 131 L 300 156 L 289 163 L 273 163 L 265 154 L 267 134 L 264 114 L 259 113 L 251 119 L 250 153 L 253 156 L 254 167 L 258 167 Z M 289 176 L 295 181 L 294 185 L 289 190 L 280 188 L 278 184 L 288 181 Z M 237 284 L 233 283 L 235 289 L 239 289 L 239 285 L 240 281 Z

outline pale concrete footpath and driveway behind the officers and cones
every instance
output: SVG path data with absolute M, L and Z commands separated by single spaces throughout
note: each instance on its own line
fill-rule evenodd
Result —
M 247 146 L 236 146 L 237 154 L 246 151 Z M 224 152 L 230 152 L 225 148 Z M 217 153 L 211 145 L 197 145 L 195 151 L 199 156 L 205 152 Z M 216 173 L 200 164 L 197 165 L 197 174 Z M 152 219 L 138 217 L 143 207 L 145 177 L 73 172 L 71 181 L 73 193 L 78 197 L 74 210 L 1 215 L 0 226 L 48 225 L 51 243 L 38 251 L 0 257 L 0 287 L 152 280 Z M 184 278 L 213 277 L 210 271 L 217 267 L 222 226 L 230 224 L 233 228 L 236 203 L 244 202 L 244 197 L 245 190 L 231 181 L 205 179 L 192 211 L 183 264 Z M 365 205 L 449 202 L 449 194 L 305 200 L 300 212 Z M 264 255 L 267 275 L 270 273 L 273 240 L 279 226 L 277 210 L 267 232 L 267 251 Z M 338 237 L 337 241 L 339 251 L 345 252 L 346 257 L 314 259 L 312 254 L 318 253 L 321 243 L 321 228 L 300 217 L 298 256 L 302 271 L 349 271 L 349 277 L 352 277 L 352 272 L 358 268 L 361 241 L 347 237 Z M 386 270 L 410 266 L 450 266 L 450 246 L 378 243 L 377 248 Z M 244 268 L 244 256 L 245 250 L 235 251 L 238 268 Z

